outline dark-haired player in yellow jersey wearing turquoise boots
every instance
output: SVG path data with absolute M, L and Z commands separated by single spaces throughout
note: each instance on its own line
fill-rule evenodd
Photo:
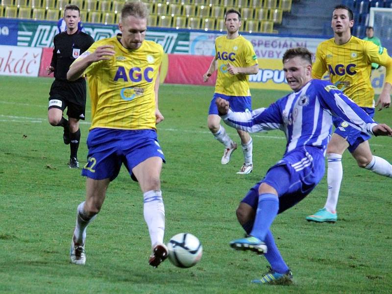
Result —
M 354 100 L 371 117 L 374 107 L 379 110 L 391 104 L 392 58 L 385 48 L 351 35 L 354 25 L 352 11 L 344 6 L 335 6 L 332 15 L 334 37 L 319 44 L 312 75 L 321 78 L 328 71 L 330 80 L 343 93 Z M 374 90 L 370 83 L 371 63 L 387 69 L 385 84 L 377 103 L 374 104 Z M 365 133 L 353 129 L 342 119 L 333 120 L 336 127 L 327 147 L 328 197 L 324 208 L 306 217 L 308 221 L 337 221 L 336 206 L 343 178 L 342 154 L 348 149 L 358 166 L 380 175 L 392 177 L 392 166 L 385 159 L 373 156 Z

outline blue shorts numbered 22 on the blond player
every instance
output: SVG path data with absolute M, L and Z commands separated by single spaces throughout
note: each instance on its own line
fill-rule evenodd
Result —
M 125 165 L 133 180 L 132 169 L 150 157 L 165 156 L 159 146 L 155 130 L 120 130 L 94 128 L 87 137 L 87 164 L 82 175 L 95 180 L 113 181 Z

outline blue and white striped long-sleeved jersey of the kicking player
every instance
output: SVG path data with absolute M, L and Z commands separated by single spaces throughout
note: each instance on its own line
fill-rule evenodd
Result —
M 252 112 L 222 116 L 225 123 L 247 132 L 280 129 L 286 134 L 286 153 L 298 147 L 317 147 L 325 154 L 332 131 L 332 116 L 373 134 L 368 114 L 329 81 L 313 79 L 298 92 Z

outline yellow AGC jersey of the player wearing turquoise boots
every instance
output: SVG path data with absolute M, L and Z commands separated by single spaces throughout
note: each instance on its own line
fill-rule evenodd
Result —
M 361 107 L 374 107 L 374 90 L 371 87 L 371 63 L 387 68 L 385 82 L 392 84 L 392 58 L 387 49 L 354 36 L 343 44 L 334 38 L 321 42 L 316 50 L 312 76 L 321 78 L 329 73 L 331 82 Z

